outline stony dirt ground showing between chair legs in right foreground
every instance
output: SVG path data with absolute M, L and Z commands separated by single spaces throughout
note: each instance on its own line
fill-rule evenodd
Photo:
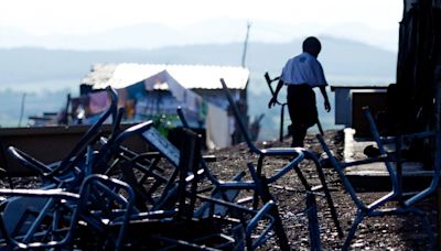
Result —
M 337 155 L 343 151 L 341 131 L 326 131 L 326 143 Z M 259 142 L 259 148 L 288 146 L 286 142 Z M 314 135 L 306 137 L 305 146 L 313 150 L 319 155 L 323 152 Z M 217 161 L 211 164 L 211 168 L 220 179 L 234 176 L 239 170 L 246 170 L 248 162 L 257 163 L 257 156 L 250 154 L 245 143 L 213 152 Z M 267 176 L 287 163 L 287 159 L 268 159 L 263 165 Z M 301 170 L 311 184 L 320 184 L 315 167 L 311 161 L 303 161 Z M 332 167 L 324 168 L 327 184 L 331 188 L 338 220 L 344 234 L 353 222 L 356 207 L 343 189 L 336 173 Z M 249 178 L 249 176 L 248 176 Z M 305 194 L 303 187 L 294 172 L 288 173 L 277 184 L 271 186 L 271 193 L 278 201 L 282 215 L 284 229 L 293 250 L 309 250 L 308 218 L 303 214 L 305 208 Z M 367 201 L 374 201 L 386 193 L 368 192 L 362 193 L 361 197 Z M 331 219 L 330 210 L 324 196 L 318 196 L 319 223 L 321 230 L 321 243 L 323 250 L 338 250 L 344 239 L 338 238 Z M 434 199 L 428 199 L 418 205 L 418 208 L 428 214 L 432 223 L 432 229 L 437 229 L 437 210 Z M 356 236 L 352 241 L 354 250 L 432 250 L 429 238 L 422 227 L 422 221 L 415 215 L 388 216 L 366 218 L 359 225 Z M 262 249 L 278 249 L 277 240 L 271 240 Z

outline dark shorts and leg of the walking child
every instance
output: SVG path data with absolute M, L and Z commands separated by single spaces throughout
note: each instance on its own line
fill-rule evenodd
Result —
M 292 126 L 291 146 L 303 146 L 306 131 L 318 121 L 315 92 L 309 85 L 288 85 L 288 111 Z

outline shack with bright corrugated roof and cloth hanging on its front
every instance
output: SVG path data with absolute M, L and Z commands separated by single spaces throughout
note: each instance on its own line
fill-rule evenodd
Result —
M 88 95 L 86 113 L 94 114 L 107 105 L 99 90 L 114 87 L 119 95 L 119 106 L 126 107 L 125 119 L 129 122 L 165 117 L 168 122 L 178 122 L 178 117 L 173 119 L 173 116 L 181 106 L 193 128 L 205 129 L 208 148 L 225 148 L 238 140 L 220 78 L 228 84 L 244 120 L 248 121 L 249 70 L 243 67 L 96 64 L 82 79 L 80 94 L 83 97 Z M 80 100 L 73 106 L 74 109 Z

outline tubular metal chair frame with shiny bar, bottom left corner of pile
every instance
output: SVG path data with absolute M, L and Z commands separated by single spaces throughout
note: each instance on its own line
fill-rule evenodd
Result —
M 94 189 L 90 189 L 90 186 L 94 186 Z M 122 197 L 117 193 L 120 189 L 125 190 L 126 197 Z M 95 193 L 98 192 L 100 193 L 98 196 L 96 196 Z M 114 214 L 112 219 L 106 218 L 106 220 L 110 220 L 110 223 L 108 223 L 109 226 L 120 225 L 117 236 L 115 238 L 106 238 L 105 244 L 112 247 L 116 250 L 120 250 L 125 241 L 129 216 L 132 214 L 132 201 L 135 196 L 131 187 L 126 183 L 109 178 L 104 175 L 90 175 L 86 177 L 78 194 L 57 188 L 45 190 L 0 189 L 0 194 L 3 196 L 20 198 L 30 197 L 34 199 L 47 199 L 43 210 L 41 210 L 37 216 L 33 218 L 31 227 L 26 228 L 26 231 L 23 233 L 15 234 L 15 232 L 11 230 L 13 228 L 8 226 L 10 223 L 9 214 L 13 214 L 13 211 L 9 214 L 2 214 L 0 217 L 0 231 L 4 238 L 3 241 L 6 241 L 9 247 L 17 247 L 19 249 L 73 247 L 77 241 L 75 240 L 76 236 L 79 234 L 79 220 L 87 222 L 87 228 L 94 227 L 101 232 L 105 231 L 106 227 L 104 227 L 103 223 L 99 223 L 104 219 L 103 215 L 97 214 L 98 211 L 103 211 L 106 212 L 106 216 Z M 92 198 L 95 200 L 96 198 L 107 198 L 114 203 L 109 204 L 110 200 L 108 200 L 106 204 L 99 204 L 92 201 Z M 111 207 L 115 207 L 116 205 L 115 201 L 118 201 L 122 205 L 120 210 L 116 212 L 111 210 Z M 49 210 L 49 208 L 52 210 Z M 87 214 L 89 208 L 94 210 L 94 215 Z M 51 222 L 47 223 L 47 220 L 51 220 Z M 63 233 L 64 236 L 62 236 L 61 239 L 54 239 L 55 234 L 61 236 Z

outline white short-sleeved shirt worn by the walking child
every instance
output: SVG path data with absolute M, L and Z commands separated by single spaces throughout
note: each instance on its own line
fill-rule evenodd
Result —
M 287 62 L 280 79 L 287 85 L 308 84 L 311 87 L 327 85 L 322 65 L 305 52 Z

